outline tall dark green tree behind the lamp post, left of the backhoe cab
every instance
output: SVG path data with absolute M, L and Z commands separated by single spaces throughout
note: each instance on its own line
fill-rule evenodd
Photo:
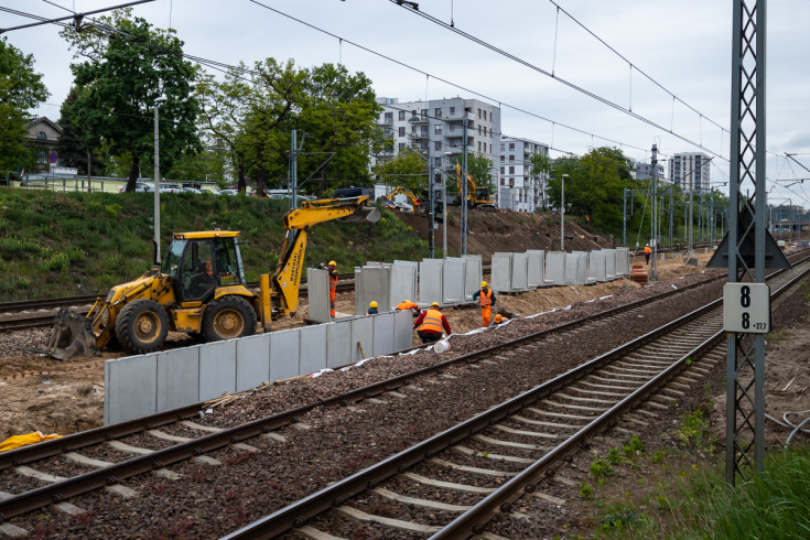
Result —
M 202 149 L 195 126 L 199 104 L 192 94 L 196 68 L 183 60 L 183 42 L 130 14 L 117 10 L 88 30 L 61 33 L 76 56 L 88 58 L 71 65 L 75 84 L 86 90 L 71 116 L 85 143 L 105 140 L 111 153 L 131 153 L 128 192 L 134 191 L 141 162 L 153 154 L 154 101 L 161 95 L 168 98 L 160 108 L 161 163 L 169 169 L 181 153 Z

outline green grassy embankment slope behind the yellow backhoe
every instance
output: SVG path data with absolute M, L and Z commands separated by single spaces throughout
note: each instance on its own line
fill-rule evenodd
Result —
M 152 259 L 149 193 L 0 190 L 0 301 L 105 293 L 147 271 Z M 240 230 L 250 281 L 276 269 L 285 201 L 166 194 L 161 250 L 174 231 Z M 328 222 L 310 230 L 305 264 L 334 259 L 339 272 L 368 260 L 421 260 L 428 246 L 389 210 L 377 224 Z

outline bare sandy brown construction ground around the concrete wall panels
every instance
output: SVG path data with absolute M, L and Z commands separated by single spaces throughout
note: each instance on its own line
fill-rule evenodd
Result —
M 681 258 L 660 261 L 659 279 L 677 283 L 680 276 L 703 271 L 708 257 L 698 256 L 699 267 L 684 264 Z M 500 294 L 496 307 L 501 313 L 527 316 L 637 287 L 640 285 L 620 279 L 594 285 L 555 287 L 520 294 Z M 336 304 L 339 313 L 354 314 L 354 293 L 339 294 Z M 304 300 L 294 317 L 277 321 L 273 330 L 304 325 L 306 315 Z M 480 311 L 475 306 L 445 310 L 445 315 L 454 333 L 465 333 L 480 326 Z M 0 440 L 31 431 L 64 435 L 102 423 L 104 361 L 122 355 L 105 353 L 98 358 L 60 361 L 45 356 L 20 356 L 19 352 L 8 347 L 9 344 L 42 347 L 48 335 L 50 330 L 0 335 L 0 391 L 3 395 Z M 170 335 L 169 345 L 172 347 L 192 343 L 185 334 Z M 418 345 L 418 339 L 413 344 Z

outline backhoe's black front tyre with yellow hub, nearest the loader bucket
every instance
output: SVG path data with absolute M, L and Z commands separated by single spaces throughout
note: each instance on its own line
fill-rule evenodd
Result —
M 129 353 L 145 354 L 158 350 L 169 334 L 169 315 L 154 300 L 130 302 L 116 318 L 116 337 Z

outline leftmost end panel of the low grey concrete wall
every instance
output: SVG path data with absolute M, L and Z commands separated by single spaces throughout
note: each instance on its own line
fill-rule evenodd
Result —
M 104 363 L 104 424 L 154 414 L 158 403 L 158 354 Z

